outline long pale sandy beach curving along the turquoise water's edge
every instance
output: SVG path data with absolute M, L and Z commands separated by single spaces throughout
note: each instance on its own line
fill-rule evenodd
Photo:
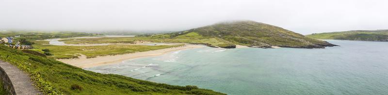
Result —
M 192 49 L 192 48 L 201 48 L 201 47 L 206 47 L 206 46 L 186 44 L 181 47 L 171 47 L 171 48 L 129 53 L 129 54 L 123 54 L 123 55 L 99 56 L 96 58 L 89 58 L 89 59 L 87 59 L 85 55 L 81 55 L 79 59 L 59 59 L 58 61 L 68 63 L 70 65 L 74 65 L 81 68 L 89 68 L 89 67 L 95 67 L 95 66 L 121 63 L 122 61 L 135 59 L 135 58 L 159 56 L 173 51 Z

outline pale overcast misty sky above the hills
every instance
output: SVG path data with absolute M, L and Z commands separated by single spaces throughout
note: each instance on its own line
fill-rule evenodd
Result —
M 388 29 L 388 0 L 0 0 L 0 30 L 184 31 L 253 20 L 301 34 Z

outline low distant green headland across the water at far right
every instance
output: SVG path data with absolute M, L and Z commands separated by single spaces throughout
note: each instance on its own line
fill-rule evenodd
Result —
M 336 40 L 357 40 L 357 41 L 388 41 L 388 30 L 375 31 L 346 31 L 346 32 L 325 32 L 306 35 L 314 39 L 336 39 Z

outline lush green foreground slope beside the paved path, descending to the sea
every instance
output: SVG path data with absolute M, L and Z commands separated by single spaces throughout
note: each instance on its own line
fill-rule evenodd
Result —
M 45 94 L 65 95 L 142 95 L 142 94 L 203 94 L 222 95 L 194 86 L 173 86 L 114 74 L 86 71 L 59 61 L 27 54 L 0 46 L 0 59 L 30 74 L 34 84 Z M 71 85 L 81 86 L 72 90 Z

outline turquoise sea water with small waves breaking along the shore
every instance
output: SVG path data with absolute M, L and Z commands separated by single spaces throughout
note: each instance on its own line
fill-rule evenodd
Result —
M 88 68 L 229 95 L 387 95 L 388 42 L 341 47 L 197 48 Z

